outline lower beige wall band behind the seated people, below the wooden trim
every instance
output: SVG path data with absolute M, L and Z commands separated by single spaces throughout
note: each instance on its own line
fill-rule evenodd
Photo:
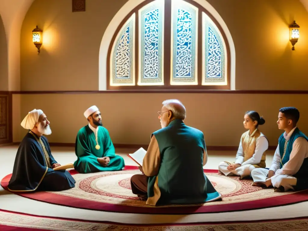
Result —
M 236 146 L 247 110 L 256 110 L 265 118 L 260 126 L 270 145 L 276 145 L 282 131 L 276 121 L 280 107 L 294 106 L 301 112 L 299 128 L 308 134 L 308 95 L 262 94 L 44 94 L 21 96 L 21 120 L 33 108 L 42 109 L 51 122 L 50 142 L 74 143 L 78 130 L 87 124 L 84 110 L 96 104 L 102 112 L 103 125 L 117 144 L 148 144 L 152 132 L 160 128 L 157 111 L 166 98 L 180 99 L 187 109 L 185 123 L 204 132 L 210 146 Z M 284 98 L 282 100 L 282 98 Z M 17 121 L 16 121 L 17 123 Z M 20 124 L 20 122 L 18 121 Z M 20 139 L 26 134 L 21 129 Z

